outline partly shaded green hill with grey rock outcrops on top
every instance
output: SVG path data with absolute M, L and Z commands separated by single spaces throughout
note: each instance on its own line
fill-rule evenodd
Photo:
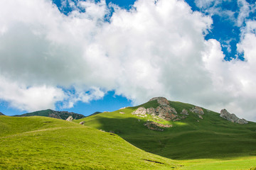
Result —
M 82 120 L 86 126 L 114 132 L 132 145 L 162 157 L 232 160 L 215 162 L 207 169 L 255 166 L 256 123 L 233 123 L 220 117 L 220 113 L 192 104 L 152 98 L 140 106 L 99 113 Z M 235 159 L 241 157 L 245 159 L 236 163 Z M 201 166 L 193 166 L 193 169 L 206 169 Z

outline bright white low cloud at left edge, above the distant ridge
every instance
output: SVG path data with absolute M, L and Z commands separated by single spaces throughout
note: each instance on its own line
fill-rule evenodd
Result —
M 55 108 L 54 103 L 63 101 L 62 89 L 46 86 L 25 86 L 15 81 L 0 77 L 0 98 L 8 101 L 11 107 L 21 111 L 37 111 L 44 108 Z

